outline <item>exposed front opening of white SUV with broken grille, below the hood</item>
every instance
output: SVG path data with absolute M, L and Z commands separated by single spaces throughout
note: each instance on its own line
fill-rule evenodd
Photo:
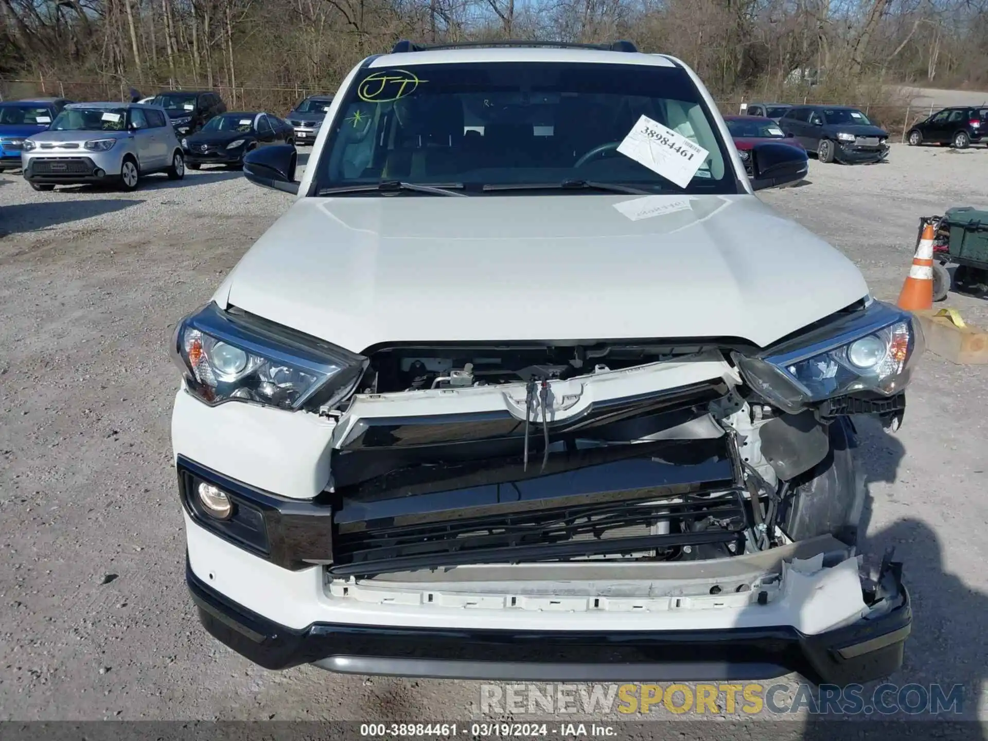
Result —
M 334 576 L 704 560 L 815 535 L 853 538 L 861 506 L 853 476 L 826 502 L 812 488 L 814 496 L 800 497 L 833 439 L 847 447 L 847 420 L 782 412 L 752 392 L 723 351 L 426 350 L 372 354 L 339 417 L 327 492 Z M 674 371 L 695 377 L 679 383 Z M 656 383 L 664 372 L 671 387 Z M 608 399 L 594 391 L 595 382 L 637 375 L 649 378 L 647 392 Z M 501 409 L 447 414 L 442 403 L 492 394 Z M 401 413 L 403 400 L 431 401 L 422 407 L 430 413 Z M 362 411 L 385 402 L 393 413 Z M 344 424 L 350 412 L 360 419 Z

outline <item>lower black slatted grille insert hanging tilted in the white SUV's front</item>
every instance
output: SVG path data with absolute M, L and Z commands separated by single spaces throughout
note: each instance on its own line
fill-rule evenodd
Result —
M 671 533 L 653 529 L 671 523 Z M 746 511 L 738 490 L 713 495 L 657 497 L 444 522 L 387 521 L 336 534 L 333 574 L 364 574 L 473 563 L 623 556 L 685 545 L 739 541 Z M 710 527 L 713 526 L 713 527 Z

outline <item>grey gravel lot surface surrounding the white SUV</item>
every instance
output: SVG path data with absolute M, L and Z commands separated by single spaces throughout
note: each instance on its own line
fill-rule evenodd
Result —
M 809 181 L 764 199 L 831 240 L 877 297 L 894 300 L 918 217 L 988 206 L 988 151 L 894 146 L 881 165 L 813 161 Z M 170 331 L 289 202 L 225 171 L 181 183 L 154 176 L 125 195 L 40 194 L 0 175 L 0 717 L 473 713 L 477 683 L 257 668 L 206 635 L 186 593 Z M 947 303 L 988 327 L 988 301 L 951 294 Z M 895 545 L 914 600 L 892 681 L 963 683 L 965 716 L 980 706 L 983 718 L 986 379 L 988 367 L 928 356 L 902 431 L 861 426 L 869 546 Z M 721 724 L 706 735 L 734 733 Z

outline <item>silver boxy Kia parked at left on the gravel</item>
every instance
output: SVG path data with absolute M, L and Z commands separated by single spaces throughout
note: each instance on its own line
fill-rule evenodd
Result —
M 24 177 L 36 191 L 113 183 L 137 189 L 155 172 L 185 176 L 185 158 L 164 109 L 133 103 L 74 103 L 24 142 Z

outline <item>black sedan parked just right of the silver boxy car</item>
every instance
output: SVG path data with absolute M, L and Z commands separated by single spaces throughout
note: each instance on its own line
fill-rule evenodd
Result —
M 259 146 L 293 144 L 294 132 L 277 116 L 262 111 L 224 113 L 182 139 L 186 167 L 216 164 L 241 167 L 244 155 Z

